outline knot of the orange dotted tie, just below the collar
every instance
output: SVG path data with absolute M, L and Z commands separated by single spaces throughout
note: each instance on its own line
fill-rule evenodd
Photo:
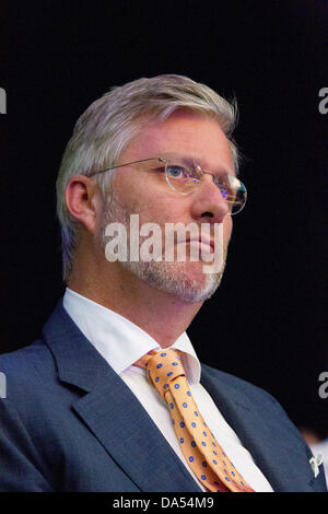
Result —
M 161 396 L 165 396 L 168 384 L 177 376 L 185 375 L 178 350 L 161 350 L 154 354 L 147 354 L 147 373 Z M 149 358 L 149 359 L 148 359 Z

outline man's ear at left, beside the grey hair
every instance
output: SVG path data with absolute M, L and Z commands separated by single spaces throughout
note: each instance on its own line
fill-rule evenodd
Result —
M 99 188 L 97 184 L 85 175 L 74 175 L 67 185 L 65 198 L 70 213 L 89 232 L 94 233 L 99 211 Z

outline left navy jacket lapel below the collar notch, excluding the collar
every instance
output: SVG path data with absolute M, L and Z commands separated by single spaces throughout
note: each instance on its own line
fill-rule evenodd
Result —
M 141 491 L 199 491 L 144 408 L 117 377 L 79 399 L 74 410 Z

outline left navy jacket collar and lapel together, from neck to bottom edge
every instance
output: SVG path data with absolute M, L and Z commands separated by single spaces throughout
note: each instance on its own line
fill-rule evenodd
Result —
M 62 383 L 84 392 L 73 409 L 141 491 L 199 492 L 142 405 L 85 339 L 61 303 L 44 327 Z

